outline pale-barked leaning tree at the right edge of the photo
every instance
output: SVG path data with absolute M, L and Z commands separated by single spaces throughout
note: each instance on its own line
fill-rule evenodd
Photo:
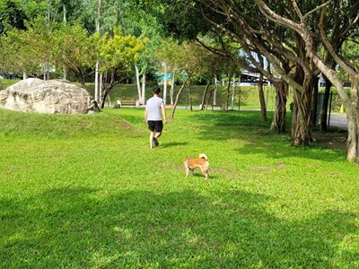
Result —
M 322 74 L 324 74 L 328 80 L 337 88 L 338 94 L 343 101 L 346 108 L 346 117 L 348 119 L 348 138 L 346 140 L 346 159 L 348 161 L 359 161 L 359 106 L 358 106 L 358 91 L 359 91 L 359 66 L 357 62 L 351 61 L 346 58 L 343 53 L 337 51 L 333 39 L 330 35 L 332 32 L 326 30 L 325 26 L 328 25 L 329 20 L 335 20 L 336 23 L 345 23 L 346 31 L 341 34 L 346 37 L 351 35 L 357 35 L 357 22 L 359 20 L 359 2 L 357 1 L 337 1 L 332 3 L 331 1 L 322 1 L 322 4 L 315 8 L 303 13 L 301 7 L 294 1 L 291 1 L 291 6 L 296 15 L 297 20 L 288 18 L 276 13 L 262 0 L 255 0 L 260 7 L 261 12 L 271 21 L 280 25 L 285 25 L 289 29 L 298 33 L 305 43 L 306 54 L 311 58 L 311 61 L 316 65 Z M 334 5 L 332 5 L 334 4 Z M 316 32 L 311 28 L 311 24 L 308 21 L 313 17 L 318 17 L 319 32 Z M 315 20 L 315 19 L 313 19 Z M 320 35 L 320 39 L 316 39 L 317 35 Z M 319 41 L 320 45 L 325 48 L 326 54 L 320 56 L 318 50 L 315 47 L 314 42 Z M 340 66 L 346 72 L 351 80 L 350 93 L 346 93 L 343 86 L 343 81 L 337 75 L 337 71 L 328 65 L 325 60 L 325 56 L 331 56 L 337 65 Z

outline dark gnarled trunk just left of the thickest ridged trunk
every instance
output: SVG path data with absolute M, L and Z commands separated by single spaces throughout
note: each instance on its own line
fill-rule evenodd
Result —
M 278 134 L 285 133 L 286 99 L 288 84 L 286 82 L 274 83 L 276 88 L 276 110 L 270 129 Z

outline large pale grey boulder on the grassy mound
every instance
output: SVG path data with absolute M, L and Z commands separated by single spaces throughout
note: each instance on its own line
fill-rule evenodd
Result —
M 40 113 L 85 114 L 91 95 L 64 80 L 29 78 L 0 91 L 0 108 Z

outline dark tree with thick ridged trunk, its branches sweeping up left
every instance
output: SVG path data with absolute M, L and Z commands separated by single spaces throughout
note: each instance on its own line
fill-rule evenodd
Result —
M 309 144 L 312 139 L 313 78 L 318 71 L 306 58 L 302 39 L 293 36 L 292 31 L 276 27 L 275 23 L 263 18 L 255 4 L 210 0 L 200 0 L 195 5 L 187 4 L 188 8 L 197 10 L 214 29 L 221 30 L 224 36 L 232 39 L 232 42 L 240 43 L 251 63 L 271 82 L 280 85 L 285 81 L 293 88 L 293 144 Z M 252 52 L 265 56 L 279 76 L 263 68 L 260 61 L 252 56 Z M 277 91 L 277 94 L 280 93 L 284 91 Z

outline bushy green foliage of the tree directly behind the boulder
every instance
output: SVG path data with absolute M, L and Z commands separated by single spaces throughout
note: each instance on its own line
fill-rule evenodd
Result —
M 11 30 L 2 37 L 4 65 L 13 72 L 39 77 L 43 66 L 65 68 L 85 88 L 96 47 L 80 24 L 45 22 L 43 18 L 27 24 L 27 30 Z M 15 53 L 16 52 L 16 53 Z

